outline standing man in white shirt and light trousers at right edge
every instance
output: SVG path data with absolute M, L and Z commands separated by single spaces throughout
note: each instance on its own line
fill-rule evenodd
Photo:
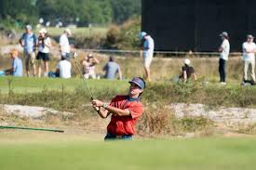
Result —
M 243 83 L 247 83 L 248 79 L 248 71 L 251 76 L 251 81 L 255 83 L 255 52 L 256 45 L 253 42 L 254 37 L 249 34 L 247 36 L 247 42 L 243 44 L 243 60 L 244 60 L 244 76 Z

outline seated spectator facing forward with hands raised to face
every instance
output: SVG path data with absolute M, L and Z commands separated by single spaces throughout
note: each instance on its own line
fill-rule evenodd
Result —
M 82 66 L 84 70 L 84 77 L 86 79 L 92 78 L 96 79 L 96 73 L 95 73 L 95 65 L 99 64 L 100 61 L 92 56 L 92 54 L 88 54 L 88 56 L 82 60 Z

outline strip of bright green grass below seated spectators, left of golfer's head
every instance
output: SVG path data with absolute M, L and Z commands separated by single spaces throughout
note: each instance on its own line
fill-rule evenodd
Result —
M 60 78 L 29 78 L 29 77 L 0 77 L 1 93 L 9 91 L 8 82 L 11 81 L 11 89 L 15 93 L 41 92 L 44 89 L 61 91 L 74 91 L 75 88 L 84 85 L 81 78 L 60 79 Z M 128 87 L 127 81 L 88 80 L 88 87 L 92 91 L 99 89 L 124 89 Z M 84 86 L 83 86 L 84 87 Z

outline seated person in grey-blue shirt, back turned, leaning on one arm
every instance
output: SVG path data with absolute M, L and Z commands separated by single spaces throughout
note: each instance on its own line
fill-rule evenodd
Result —
M 103 71 L 106 72 L 104 76 L 106 79 L 115 79 L 115 74 L 118 72 L 119 80 L 122 80 L 122 72 L 120 66 L 114 61 L 113 57 L 109 58 L 108 63 L 103 68 Z

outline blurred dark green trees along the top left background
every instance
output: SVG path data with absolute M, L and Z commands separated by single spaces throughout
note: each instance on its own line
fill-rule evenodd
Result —
M 0 19 L 7 24 L 51 22 L 122 23 L 141 15 L 141 0 L 1 0 Z

